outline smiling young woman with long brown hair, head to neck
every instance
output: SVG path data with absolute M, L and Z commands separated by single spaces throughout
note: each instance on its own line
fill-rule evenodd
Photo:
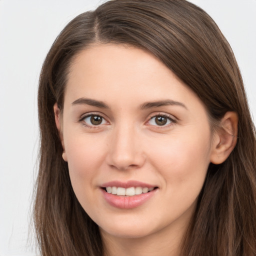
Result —
M 111 0 L 53 43 L 38 89 L 42 255 L 255 255 L 255 133 L 212 19 Z

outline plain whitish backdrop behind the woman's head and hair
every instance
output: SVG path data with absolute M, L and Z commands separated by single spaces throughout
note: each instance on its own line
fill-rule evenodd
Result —
M 68 21 L 103 1 L 0 0 L 0 256 L 36 255 L 29 226 L 43 59 Z M 212 16 L 229 41 L 256 116 L 256 0 L 191 2 Z

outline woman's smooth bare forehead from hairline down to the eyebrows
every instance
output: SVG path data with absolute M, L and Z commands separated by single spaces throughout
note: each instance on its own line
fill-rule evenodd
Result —
M 95 44 L 73 59 L 65 100 L 94 98 L 118 106 L 170 98 L 198 101 L 197 96 L 146 50 L 120 44 Z

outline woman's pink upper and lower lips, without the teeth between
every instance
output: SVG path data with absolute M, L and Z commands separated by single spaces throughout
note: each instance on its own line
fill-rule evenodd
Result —
M 120 182 L 120 181 L 110 181 L 101 185 L 102 187 L 107 186 L 116 186 L 116 187 L 155 187 L 154 185 L 146 184 L 140 181 L 130 180 L 128 182 Z M 158 189 L 153 189 L 150 192 L 132 195 L 132 196 L 122 196 L 122 195 L 115 195 L 111 193 L 107 193 L 104 189 L 101 189 L 104 199 L 113 207 L 120 208 L 120 209 L 131 209 L 138 207 L 149 200 L 157 191 Z

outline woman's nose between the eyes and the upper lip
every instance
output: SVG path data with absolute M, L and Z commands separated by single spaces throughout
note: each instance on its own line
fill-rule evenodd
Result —
M 136 169 L 145 162 L 139 132 L 131 125 L 122 125 L 112 130 L 106 156 L 107 164 L 118 170 Z

